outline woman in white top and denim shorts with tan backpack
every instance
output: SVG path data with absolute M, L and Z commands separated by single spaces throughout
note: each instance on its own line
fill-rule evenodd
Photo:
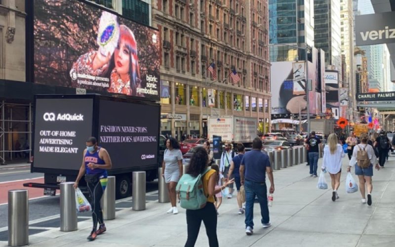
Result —
M 359 179 L 359 191 L 362 195 L 361 203 L 365 204 L 365 183 L 367 188 L 367 205 L 372 205 L 372 176 L 373 176 L 373 164 L 376 165 L 376 169 L 380 170 L 380 166 L 377 163 L 376 155 L 372 146 L 367 144 L 367 134 L 362 133 L 359 137 L 361 143 L 356 145 L 354 148 L 353 156 L 350 161 L 350 165 L 347 171 L 350 172 L 351 166 L 355 165 L 355 174 Z

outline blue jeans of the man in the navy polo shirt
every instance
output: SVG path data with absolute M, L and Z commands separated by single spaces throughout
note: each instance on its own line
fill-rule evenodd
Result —
M 253 181 L 244 182 L 245 189 L 245 227 L 254 228 L 254 200 L 258 197 L 261 206 L 261 223 L 269 223 L 269 207 L 266 183 L 256 183 Z

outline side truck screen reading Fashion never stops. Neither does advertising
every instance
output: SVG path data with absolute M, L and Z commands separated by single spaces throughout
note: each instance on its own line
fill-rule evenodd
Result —
M 158 163 L 159 111 L 154 105 L 100 100 L 98 142 L 114 169 Z

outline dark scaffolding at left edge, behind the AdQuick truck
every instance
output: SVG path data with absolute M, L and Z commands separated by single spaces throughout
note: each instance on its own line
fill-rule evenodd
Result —
M 32 157 L 32 103 L 19 104 L 8 103 L 4 100 L 0 103 L 0 164 L 6 165 L 13 159 L 13 154 L 31 160 Z M 22 136 L 22 137 L 21 137 Z M 16 150 L 14 143 L 23 139 L 24 144 Z M 27 144 L 28 143 L 28 147 Z M 27 153 L 29 153 L 27 157 Z

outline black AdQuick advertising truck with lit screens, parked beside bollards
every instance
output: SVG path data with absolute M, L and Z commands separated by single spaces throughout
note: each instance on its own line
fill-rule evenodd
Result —
M 36 95 L 31 172 L 44 173 L 43 188 L 55 195 L 61 182 L 76 180 L 86 140 L 95 136 L 110 154 L 117 198 L 131 195 L 133 171 L 158 177 L 160 105 L 98 94 Z M 86 186 L 84 179 L 79 185 Z

